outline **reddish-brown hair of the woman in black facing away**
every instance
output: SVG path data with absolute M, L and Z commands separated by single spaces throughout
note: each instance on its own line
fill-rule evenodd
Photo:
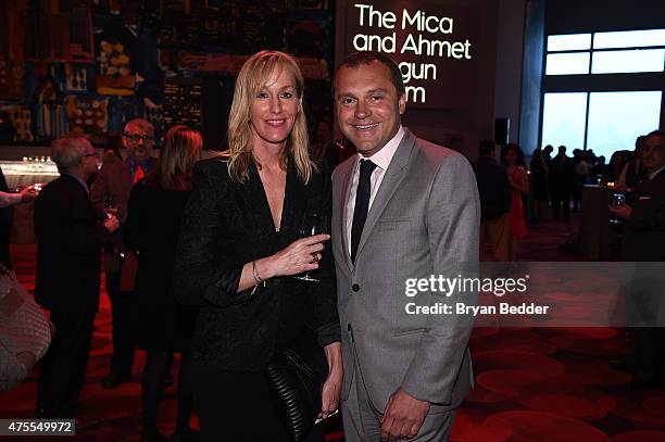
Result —
M 203 138 L 188 126 L 173 126 L 166 132 L 164 147 L 154 169 L 148 175 L 148 185 L 167 190 L 191 189 L 191 169 L 201 156 Z

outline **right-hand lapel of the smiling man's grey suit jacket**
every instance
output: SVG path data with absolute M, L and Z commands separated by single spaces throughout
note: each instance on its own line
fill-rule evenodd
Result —
M 367 242 L 367 238 L 372 232 L 372 229 L 376 225 L 376 222 L 380 218 L 384 213 L 384 209 L 392 198 L 392 194 L 400 186 L 400 182 L 406 176 L 406 166 L 409 165 L 409 159 L 411 157 L 411 151 L 415 144 L 415 136 L 407 129 L 404 129 L 404 138 L 400 142 L 394 156 L 386 171 L 386 175 L 381 181 L 381 186 L 372 203 L 369 213 L 367 213 L 367 220 L 363 227 L 363 235 L 361 236 L 360 243 L 357 244 L 357 252 L 355 254 L 356 260 L 360 256 L 363 245 Z

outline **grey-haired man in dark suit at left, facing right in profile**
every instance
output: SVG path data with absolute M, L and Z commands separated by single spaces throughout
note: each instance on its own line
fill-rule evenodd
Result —
M 53 141 L 51 157 L 60 178 L 35 200 L 37 279 L 35 300 L 51 312 L 55 336 L 41 361 L 37 416 L 73 418 L 99 308 L 100 253 L 120 227 L 98 223 L 86 181 L 97 173 L 97 152 L 87 139 Z

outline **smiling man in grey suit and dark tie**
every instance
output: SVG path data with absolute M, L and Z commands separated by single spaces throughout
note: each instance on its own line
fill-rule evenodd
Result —
M 401 126 L 404 85 L 386 55 L 349 55 L 335 100 L 357 149 L 332 175 L 344 435 L 447 440 L 472 382 L 470 329 L 454 315 L 401 313 L 406 279 L 448 277 L 454 264 L 478 261 L 474 174 L 462 155 Z

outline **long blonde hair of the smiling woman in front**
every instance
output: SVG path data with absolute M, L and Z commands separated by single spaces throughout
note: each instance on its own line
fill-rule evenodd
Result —
M 228 117 L 228 173 L 231 179 L 243 182 L 249 178 L 249 166 L 255 159 L 252 153 L 251 108 L 252 101 L 266 86 L 273 74 L 279 75 L 284 70 L 293 74 L 296 93 L 302 99 L 304 79 L 296 60 L 284 52 L 261 51 L 244 62 L 234 90 L 234 102 Z M 287 156 L 290 154 L 296 163 L 298 177 L 305 184 L 312 177 L 315 165 L 308 153 L 308 125 L 304 112 L 298 112 L 293 129 L 286 140 L 285 154 L 280 160 L 286 168 Z M 261 166 L 259 164 L 259 166 Z

